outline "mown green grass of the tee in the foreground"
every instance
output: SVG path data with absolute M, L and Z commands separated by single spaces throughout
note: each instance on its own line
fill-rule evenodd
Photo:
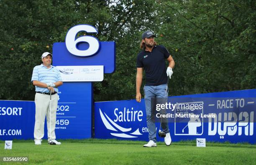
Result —
M 33 140 L 13 140 L 13 149 L 4 150 L 0 141 L 0 157 L 28 157 L 25 164 L 255 164 L 256 145 L 207 143 L 197 148 L 195 141 L 182 141 L 156 148 L 143 148 L 145 142 L 128 140 L 61 140 L 61 145 L 34 145 Z M 5 164 L 0 162 L 0 164 Z M 6 163 L 22 164 L 22 163 Z

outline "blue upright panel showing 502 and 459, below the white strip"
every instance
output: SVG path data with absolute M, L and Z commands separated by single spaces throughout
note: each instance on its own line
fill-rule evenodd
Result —
M 58 139 L 91 138 L 92 83 L 64 82 L 59 87 L 55 132 Z

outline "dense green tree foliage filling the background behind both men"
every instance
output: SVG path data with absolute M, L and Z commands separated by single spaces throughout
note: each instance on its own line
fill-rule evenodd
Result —
M 33 67 L 78 24 L 116 42 L 116 71 L 94 82 L 95 101 L 134 99 L 144 30 L 176 62 L 169 95 L 256 85 L 255 0 L 1 0 L 0 8 L 2 100 L 33 100 Z

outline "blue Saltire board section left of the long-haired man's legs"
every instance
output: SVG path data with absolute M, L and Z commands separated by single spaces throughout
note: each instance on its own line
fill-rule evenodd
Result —
M 95 137 L 143 140 L 147 136 L 143 106 L 135 100 L 113 103 L 95 103 Z

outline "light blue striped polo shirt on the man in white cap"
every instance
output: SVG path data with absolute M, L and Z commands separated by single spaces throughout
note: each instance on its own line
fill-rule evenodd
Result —
M 33 80 L 37 80 L 40 82 L 57 82 L 62 81 L 59 69 L 57 67 L 54 67 L 51 65 L 51 67 L 48 69 L 43 64 L 37 65 L 33 69 L 33 74 L 31 78 L 31 82 Z M 58 87 L 54 87 L 54 90 L 56 92 L 59 92 Z M 50 92 L 47 87 L 38 87 L 36 86 L 36 92 Z

